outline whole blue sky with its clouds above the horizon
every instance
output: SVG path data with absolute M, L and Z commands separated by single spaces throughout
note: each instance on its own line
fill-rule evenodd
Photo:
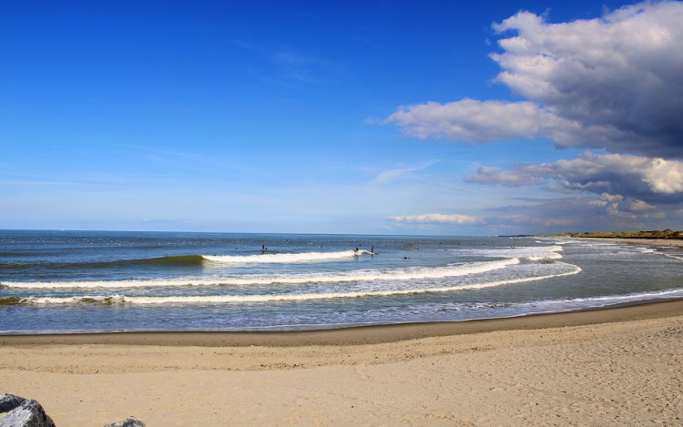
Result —
M 683 229 L 683 2 L 0 2 L 0 229 Z

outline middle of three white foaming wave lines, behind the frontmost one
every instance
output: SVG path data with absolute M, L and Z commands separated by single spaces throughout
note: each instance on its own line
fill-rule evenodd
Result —
M 337 273 L 302 273 L 280 274 L 270 276 L 239 276 L 216 278 L 173 278 L 165 280 L 102 280 L 102 281 L 46 281 L 46 282 L 3 282 L 8 288 L 55 289 L 55 288 L 142 288 L 142 287 L 180 287 L 180 286 L 216 286 L 216 285 L 272 285 L 301 283 L 334 283 L 349 281 L 376 280 L 421 280 L 443 279 L 448 277 L 467 276 L 484 273 L 494 269 L 505 269 L 519 264 L 520 259 L 502 259 L 488 262 L 472 262 L 455 264 L 442 268 L 408 268 L 408 269 L 363 269 Z

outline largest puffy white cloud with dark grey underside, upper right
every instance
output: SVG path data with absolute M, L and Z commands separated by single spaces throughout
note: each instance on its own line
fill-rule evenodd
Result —
M 494 29 L 496 80 L 523 102 L 464 99 L 402 107 L 386 123 L 412 137 L 481 144 L 545 137 L 558 147 L 683 158 L 683 3 L 625 6 L 549 24 L 520 12 Z

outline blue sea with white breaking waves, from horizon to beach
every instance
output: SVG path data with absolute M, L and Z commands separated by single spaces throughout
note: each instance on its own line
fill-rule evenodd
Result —
M 683 251 L 509 237 L 0 231 L 0 334 L 305 330 L 683 297 Z

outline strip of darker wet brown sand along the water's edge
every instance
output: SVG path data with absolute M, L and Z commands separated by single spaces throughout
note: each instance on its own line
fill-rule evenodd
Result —
M 544 330 L 683 315 L 683 299 L 643 301 L 586 310 L 509 318 L 392 323 L 324 330 L 127 330 L 0 335 L 0 347 L 25 345 L 127 345 L 197 347 L 352 346 L 471 335 L 506 330 Z

